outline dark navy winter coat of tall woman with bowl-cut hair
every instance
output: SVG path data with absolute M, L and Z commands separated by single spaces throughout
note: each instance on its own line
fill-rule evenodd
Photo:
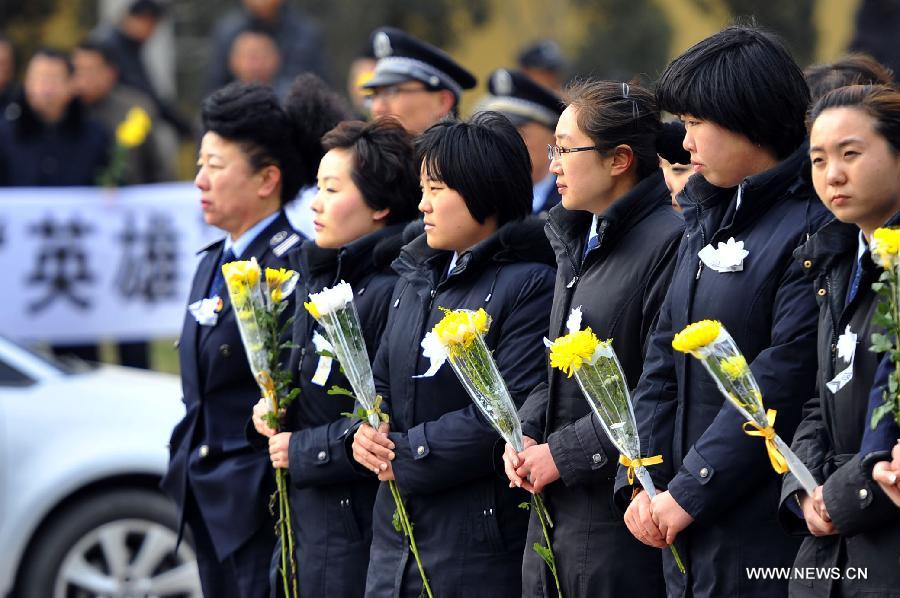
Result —
M 669 596 L 787 593 L 787 581 L 750 579 L 746 571 L 794 562 L 798 543 L 776 517 L 781 479 L 762 440 L 744 433 L 744 418 L 702 364 L 672 349 L 672 337 L 691 322 L 720 320 L 750 363 L 765 406 L 777 410 L 778 433 L 790 442 L 815 387 L 817 315 L 792 254 L 828 218 L 797 176 L 809 168 L 806 151 L 744 179 L 740 208 L 737 189 L 696 175 L 678 198 L 685 234 L 633 397 L 642 450 L 664 459 L 648 471 L 695 520 L 676 540 L 686 575 L 663 551 Z M 701 265 L 701 248 L 731 237 L 749 251 L 743 271 Z M 624 474 L 620 468 L 620 499 L 630 494 Z

